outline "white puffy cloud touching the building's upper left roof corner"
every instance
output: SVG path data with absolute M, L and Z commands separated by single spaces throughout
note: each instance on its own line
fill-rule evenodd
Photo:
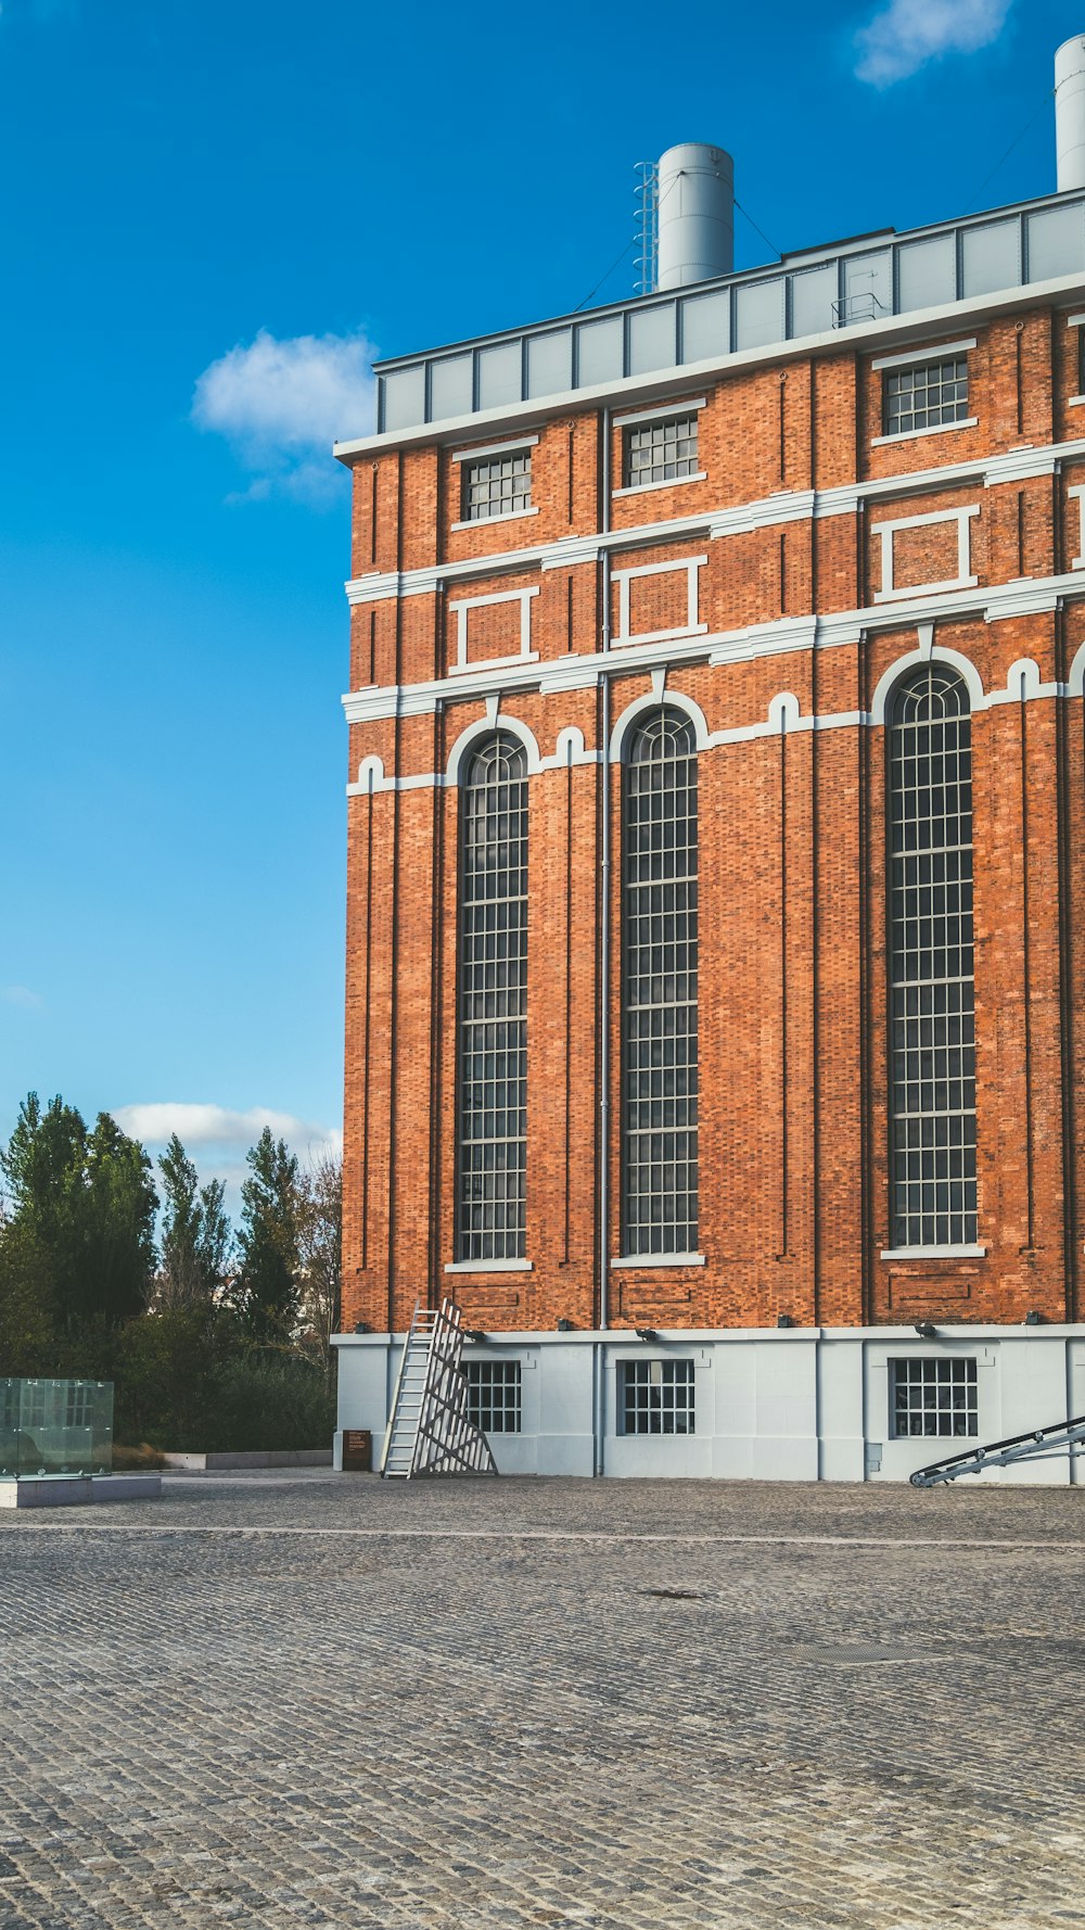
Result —
M 365 436 L 375 421 L 375 355 L 365 336 L 292 336 L 261 328 L 203 371 L 193 396 L 197 428 L 232 444 L 253 481 L 232 500 L 272 492 L 334 498 L 332 442 Z

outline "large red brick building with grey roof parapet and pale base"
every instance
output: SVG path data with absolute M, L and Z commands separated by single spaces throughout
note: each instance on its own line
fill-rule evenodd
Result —
M 1085 178 L 695 272 L 336 452 L 342 1426 L 900 1476 L 1085 1409 Z

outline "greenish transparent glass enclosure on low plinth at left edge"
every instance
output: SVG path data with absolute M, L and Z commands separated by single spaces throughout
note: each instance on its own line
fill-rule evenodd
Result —
M 0 1476 L 108 1475 L 112 1380 L 0 1380 Z

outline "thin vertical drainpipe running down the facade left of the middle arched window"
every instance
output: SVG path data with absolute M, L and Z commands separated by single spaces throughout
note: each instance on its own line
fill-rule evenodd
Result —
M 602 504 L 600 529 L 610 531 L 610 407 L 602 411 Z M 600 565 L 602 621 L 598 647 L 604 658 L 600 670 L 600 764 L 602 822 L 598 838 L 598 1326 L 610 1326 L 610 546 L 604 544 Z M 598 1343 L 595 1374 L 595 1473 L 604 1471 L 606 1440 L 606 1351 Z

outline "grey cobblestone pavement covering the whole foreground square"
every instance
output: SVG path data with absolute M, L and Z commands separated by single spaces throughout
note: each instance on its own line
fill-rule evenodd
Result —
M 6 1513 L 0 1926 L 1081 1926 L 1083 1583 L 1066 1488 Z

